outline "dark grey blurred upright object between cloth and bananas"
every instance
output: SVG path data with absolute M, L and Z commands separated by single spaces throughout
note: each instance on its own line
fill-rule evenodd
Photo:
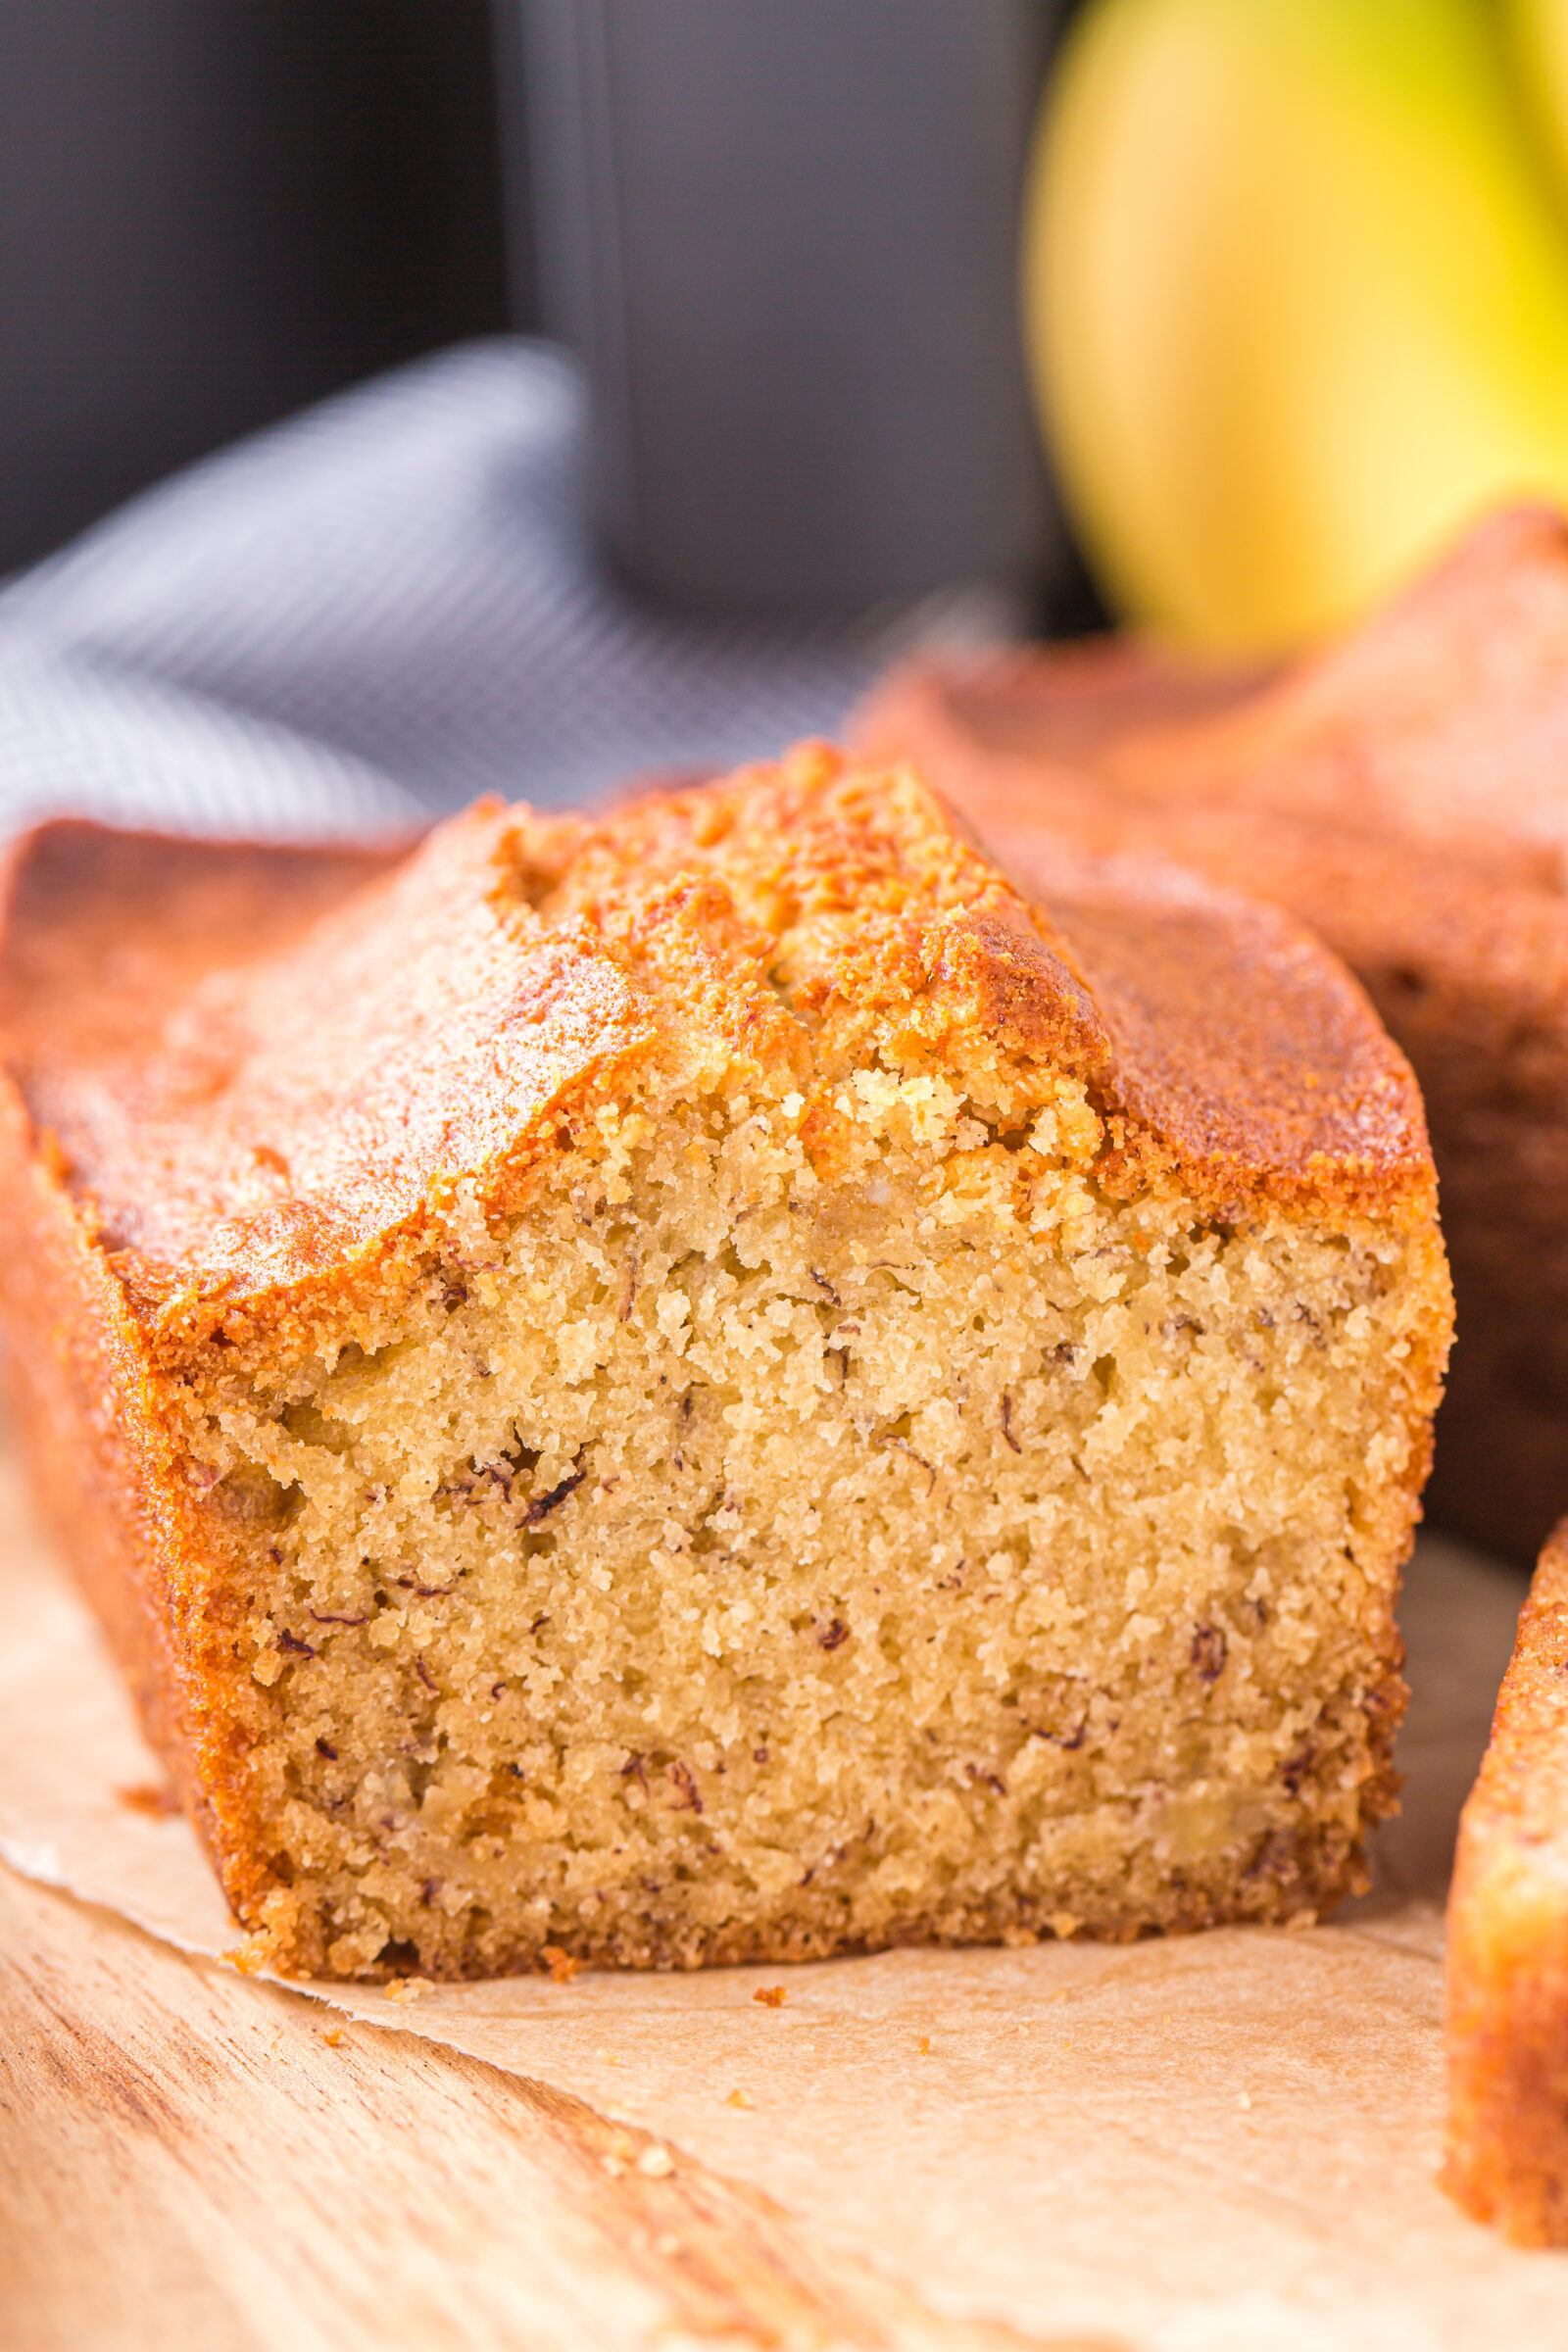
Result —
M 1018 202 L 1048 0 L 503 0 L 618 567 L 830 612 L 1039 581 Z

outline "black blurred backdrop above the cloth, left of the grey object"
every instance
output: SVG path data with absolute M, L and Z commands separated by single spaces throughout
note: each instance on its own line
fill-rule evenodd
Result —
M 508 287 L 487 0 L 0 0 L 0 572 Z

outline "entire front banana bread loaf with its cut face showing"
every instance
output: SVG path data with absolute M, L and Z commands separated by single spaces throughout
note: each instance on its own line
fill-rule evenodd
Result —
M 1356 1884 L 1448 1277 L 1349 976 L 818 748 L 364 873 L 49 828 L 0 938 L 33 1482 L 254 1955 Z

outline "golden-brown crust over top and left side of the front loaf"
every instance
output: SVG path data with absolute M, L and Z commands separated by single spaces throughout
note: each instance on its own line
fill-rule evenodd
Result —
M 1027 898 L 912 776 L 820 748 L 592 826 L 487 804 L 390 861 L 94 828 L 16 849 L 2 1305 L 33 1477 L 242 1907 L 270 1884 L 242 1757 L 259 1700 L 172 1435 L 179 1383 L 214 1350 L 308 1352 L 411 1287 L 646 1061 L 722 1035 L 811 1068 L 823 1162 L 835 1073 L 870 1042 L 1020 1105 L 1072 1070 L 1128 1188 L 1164 1164 L 1220 1216 L 1392 1216 L 1427 1232 L 1441 1303 L 1420 1101 L 1333 957 L 1164 866 L 1037 837 L 1020 880 Z M 1368 1700 L 1389 1733 L 1396 1670 L 1389 1621 Z M 1274 1886 L 1284 1910 L 1328 1898 L 1352 1849 L 1272 1856 L 1260 1915 Z M 1173 1903 L 1171 1924 L 1213 1917 Z

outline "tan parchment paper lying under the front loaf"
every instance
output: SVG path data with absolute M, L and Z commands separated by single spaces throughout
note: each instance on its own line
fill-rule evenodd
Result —
M 1410 1569 L 1406 1813 L 1333 1926 L 508 1978 L 353 2016 L 559 2084 L 769 2190 L 938 2312 L 1147 2352 L 1561 2352 L 1568 2256 L 1436 2190 L 1441 1896 L 1523 1578 Z M 0 1463 L 0 1853 L 193 1952 L 235 1926 Z M 132 1792 L 129 1799 L 125 1792 Z M 759 1987 L 785 1987 L 764 2006 Z

